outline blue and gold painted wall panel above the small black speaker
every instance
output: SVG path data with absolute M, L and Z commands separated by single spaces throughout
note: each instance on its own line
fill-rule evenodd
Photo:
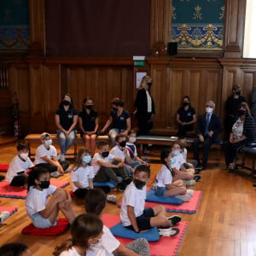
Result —
M 224 0 L 172 0 L 172 42 L 179 49 L 221 50 Z

